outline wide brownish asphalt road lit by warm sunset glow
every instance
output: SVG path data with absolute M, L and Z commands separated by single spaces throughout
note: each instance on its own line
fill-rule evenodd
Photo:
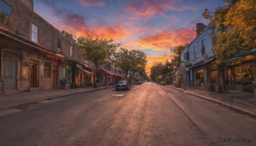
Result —
M 0 146 L 255 146 L 255 129 L 255 118 L 146 82 L 2 117 Z

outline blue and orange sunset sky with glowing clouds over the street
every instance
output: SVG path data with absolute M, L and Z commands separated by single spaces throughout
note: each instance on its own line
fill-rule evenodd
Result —
M 128 50 L 147 54 L 146 72 L 174 56 L 170 48 L 190 43 L 196 23 L 207 25 L 204 9 L 223 0 L 33 0 L 34 11 L 59 31 L 113 39 Z

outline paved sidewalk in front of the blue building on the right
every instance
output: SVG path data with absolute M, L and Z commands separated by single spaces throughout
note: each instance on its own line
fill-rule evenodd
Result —
M 180 92 L 191 94 L 212 101 L 214 103 L 226 106 L 230 109 L 256 117 L 256 99 L 254 98 L 254 93 L 227 92 L 217 94 L 216 92 L 206 92 L 197 87 L 186 86 L 186 90 L 183 90 L 183 87 L 177 88 L 173 85 L 167 86 L 177 89 Z

